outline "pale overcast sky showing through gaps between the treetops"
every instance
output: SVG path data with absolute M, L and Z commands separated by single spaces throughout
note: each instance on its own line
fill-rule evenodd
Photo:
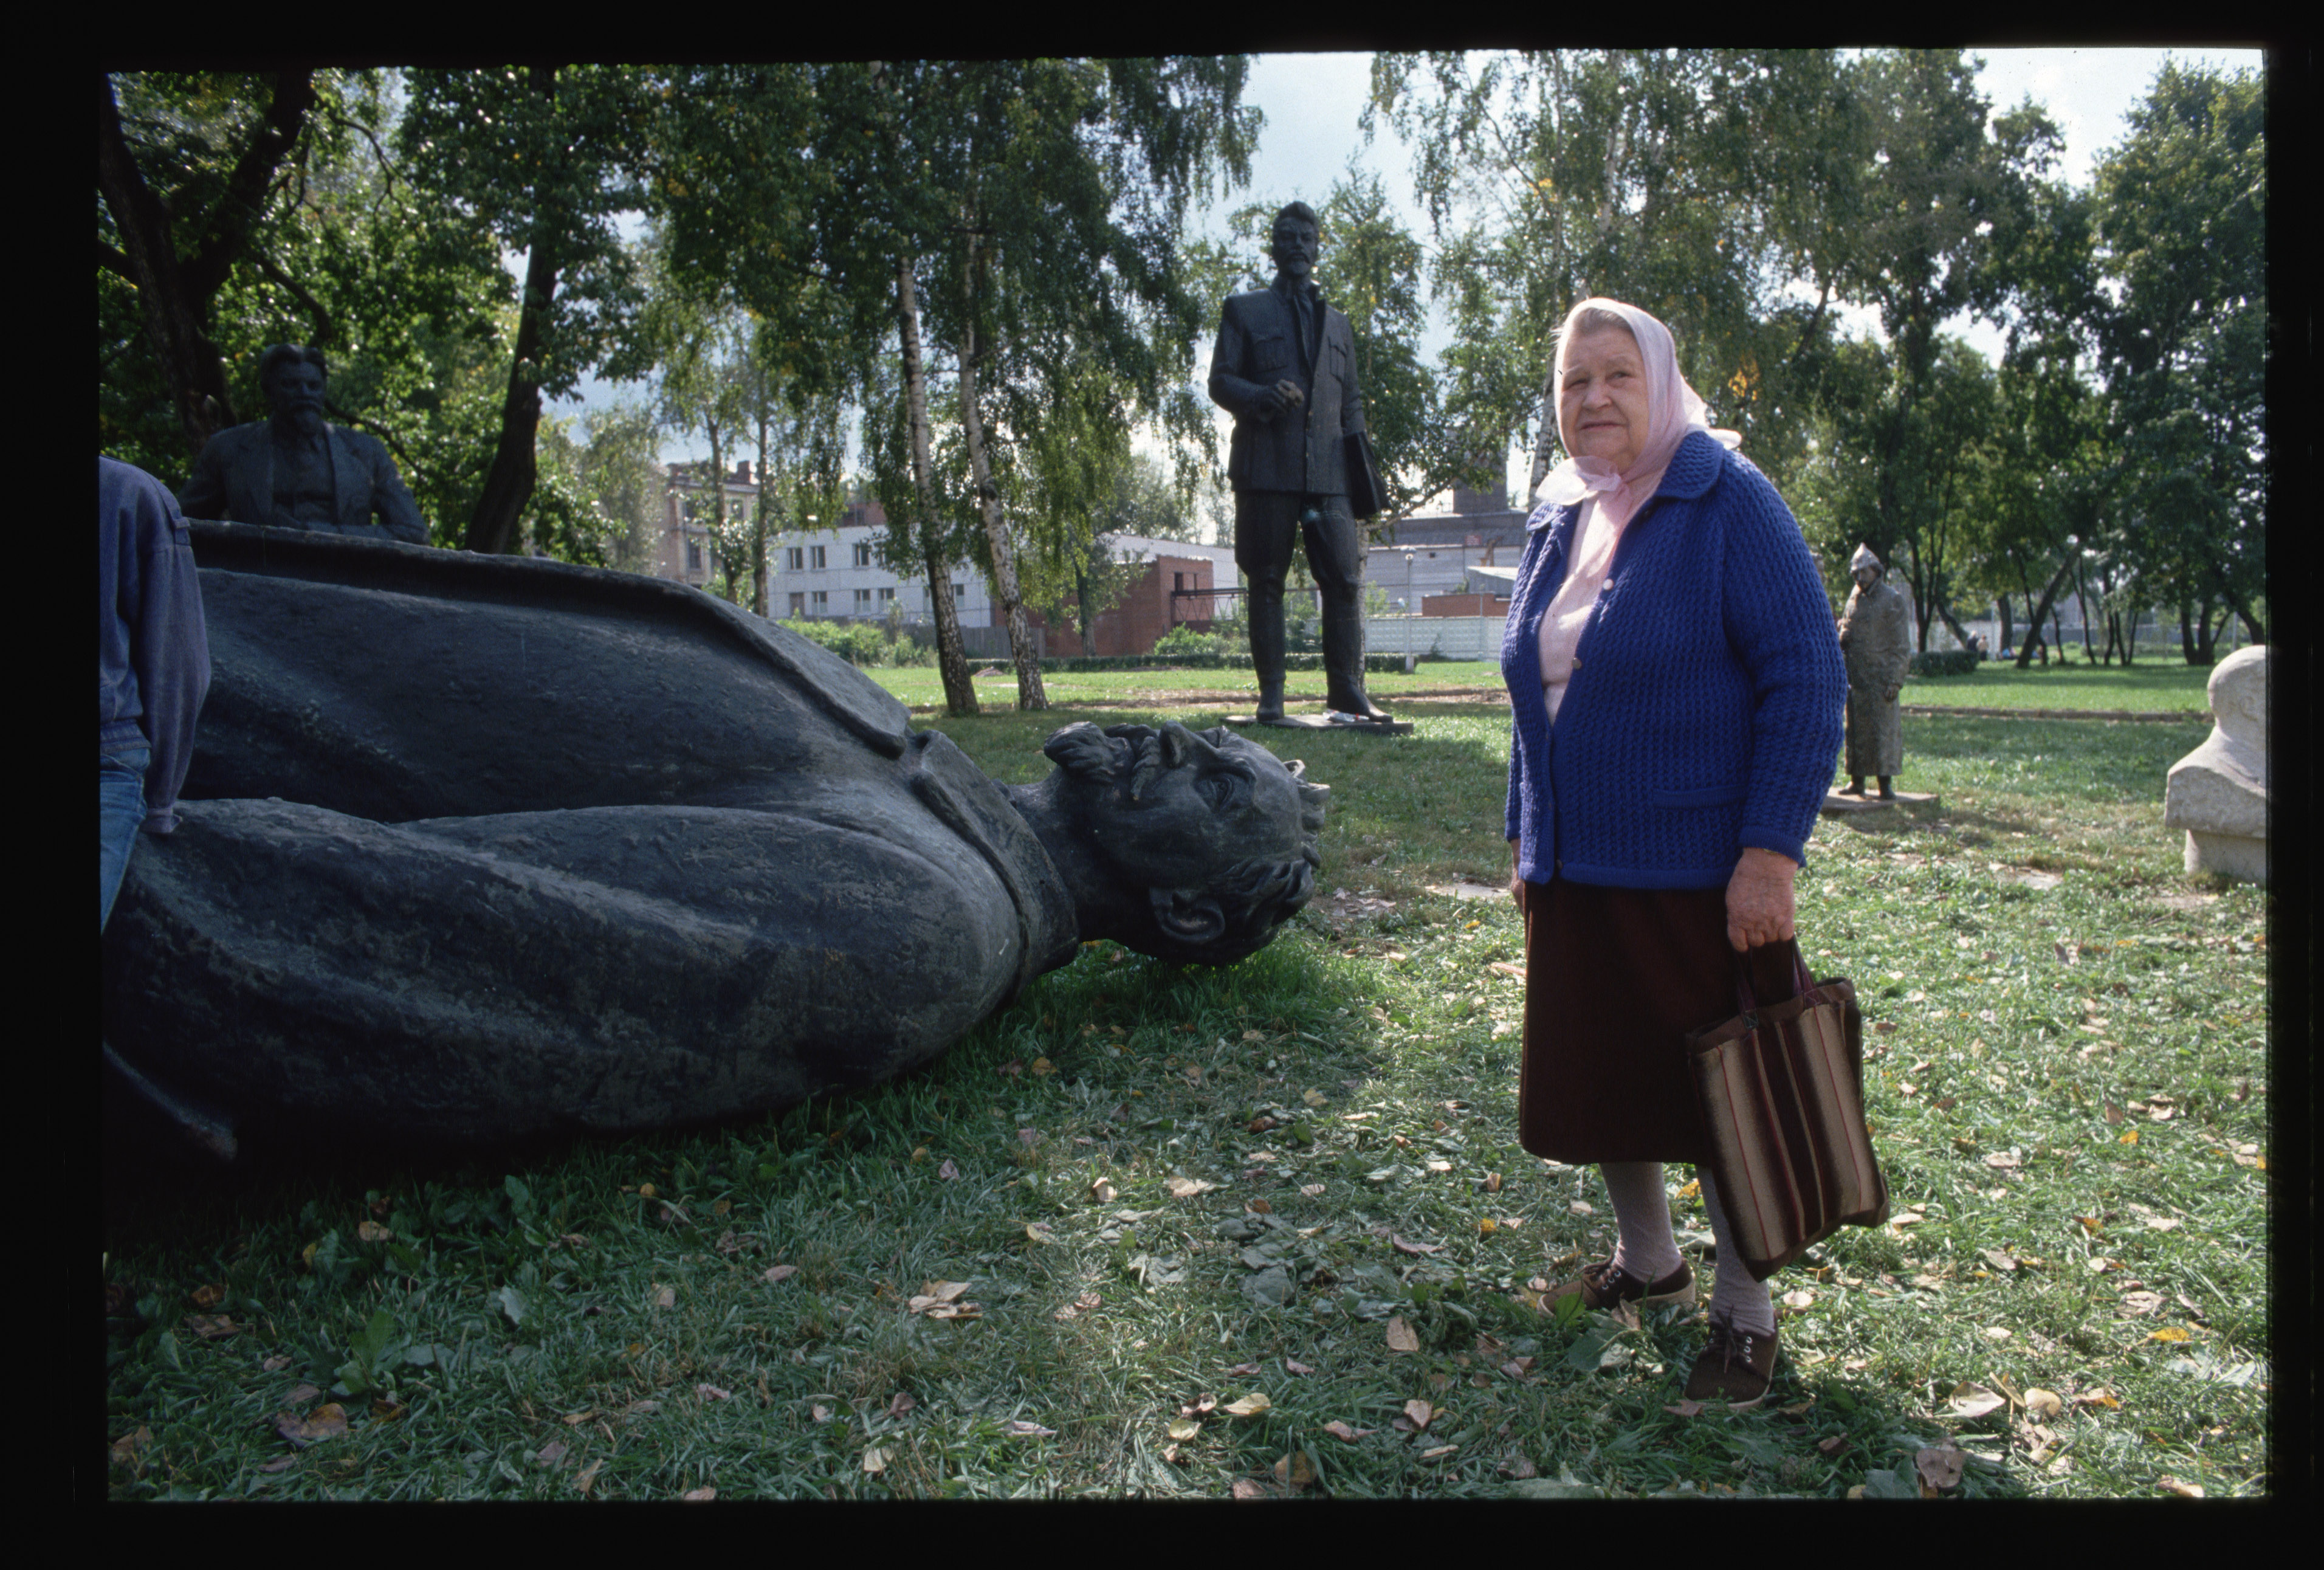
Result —
M 1985 58 L 1978 77 L 1980 88 L 1992 100 L 1994 112 L 2017 107 L 2033 98 L 2047 107 L 2066 137 L 2066 154 L 2052 174 L 2071 184 L 2087 186 L 2101 151 L 2122 140 L 2124 116 L 2133 102 L 2154 86 L 2154 74 L 2164 58 L 2182 63 L 2205 63 L 2217 67 L 2261 70 L 2259 49 L 1975 49 Z M 1427 237 L 1427 219 L 1411 200 L 1411 158 L 1397 135 L 1387 128 L 1373 142 L 1364 142 L 1357 116 L 1371 93 L 1369 53 L 1274 53 L 1253 60 L 1243 100 L 1267 114 L 1257 154 L 1250 160 L 1250 186 L 1215 200 L 1199 219 L 1204 233 L 1225 240 L 1225 216 L 1243 202 L 1267 202 L 1281 207 L 1290 200 L 1320 205 L 1341 179 L 1353 156 L 1364 170 L 1378 172 L 1387 193 L 1406 205 L 1406 223 L 1415 235 Z M 1871 316 L 1862 316 L 1862 328 L 1873 328 Z M 1999 356 L 2001 335 L 1992 328 L 1959 321 L 1952 328 L 1968 342 Z M 1422 358 L 1434 358 L 1446 344 L 1439 328 L 1422 340 Z M 1197 379 L 1208 374 L 1208 344 L 1197 349 Z M 607 402 L 621 388 L 583 384 L 588 402 Z M 572 412 L 565 405 L 560 412 Z M 1220 449 L 1225 451 L 1227 419 L 1220 412 Z M 686 451 L 679 442 L 665 449 L 667 458 L 706 456 Z M 1513 491 L 1522 488 L 1525 470 L 1520 458 L 1511 458 Z

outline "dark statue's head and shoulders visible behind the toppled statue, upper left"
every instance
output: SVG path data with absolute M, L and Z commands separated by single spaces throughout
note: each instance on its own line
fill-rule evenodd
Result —
M 177 505 L 188 519 L 428 544 L 388 449 L 323 421 L 321 349 L 274 344 L 258 361 L 267 419 L 209 437 Z M 376 516 L 376 523 L 374 523 Z

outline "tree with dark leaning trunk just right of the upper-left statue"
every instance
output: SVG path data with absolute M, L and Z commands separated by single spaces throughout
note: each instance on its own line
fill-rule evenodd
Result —
M 409 72 L 404 158 L 460 216 L 525 254 L 490 470 L 467 549 L 518 549 L 537 477 L 541 398 L 565 395 L 637 307 L 614 216 L 641 207 L 648 105 L 639 72 L 600 65 Z

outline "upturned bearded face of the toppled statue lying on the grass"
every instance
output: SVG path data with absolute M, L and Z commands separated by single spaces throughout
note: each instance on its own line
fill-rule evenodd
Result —
M 1129 884 L 1199 889 L 1239 861 L 1297 861 L 1299 786 L 1283 763 L 1218 728 L 1164 726 L 1164 765 L 1139 798 L 1092 791 L 1085 821 Z

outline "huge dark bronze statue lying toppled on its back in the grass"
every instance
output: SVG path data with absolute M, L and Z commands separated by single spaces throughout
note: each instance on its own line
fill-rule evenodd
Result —
M 209 700 L 105 1040 L 214 1147 L 769 1112 L 927 1063 L 1085 940 L 1225 965 L 1313 889 L 1325 786 L 1222 728 L 1067 726 L 1002 786 L 695 588 L 193 535 Z

